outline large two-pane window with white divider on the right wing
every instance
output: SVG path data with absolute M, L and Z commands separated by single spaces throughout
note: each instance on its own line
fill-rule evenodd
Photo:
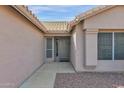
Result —
M 98 33 L 98 60 L 124 60 L 124 33 Z

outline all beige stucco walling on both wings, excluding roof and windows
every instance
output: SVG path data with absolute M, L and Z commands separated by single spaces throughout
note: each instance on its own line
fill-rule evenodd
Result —
M 124 71 L 124 60 L 97 60 L 99 31 L 124 32 L 124 6 L 76 24 L 72 33 L 43 34 L 10 6 L 0 6 L 0 87 L 19 87 L 45 61 L 44 36 L 71 36 L 71 63 L 77 72 Z

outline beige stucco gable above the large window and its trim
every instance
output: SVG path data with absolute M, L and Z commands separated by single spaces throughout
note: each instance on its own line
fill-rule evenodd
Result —
M 124 6 L 116 6 L 84 21 L 84 28 L 123 29 Z

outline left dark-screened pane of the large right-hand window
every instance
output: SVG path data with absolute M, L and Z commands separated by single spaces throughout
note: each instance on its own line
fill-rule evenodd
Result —
M 112 60 L 112 33 L 98 33 L 98 60 Z

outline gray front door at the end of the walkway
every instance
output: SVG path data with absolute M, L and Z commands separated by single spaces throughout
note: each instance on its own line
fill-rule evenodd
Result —
M 70 38 L 58 37 L 55 39 L 55 60 L 68 62 L 70 57 Z

